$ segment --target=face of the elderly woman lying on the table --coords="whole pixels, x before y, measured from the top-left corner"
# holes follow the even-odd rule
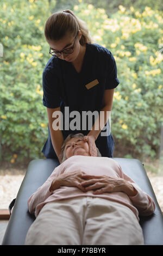
[[[65,155],[67,159],[75,155],[90,156],[89,145],[82,138],[72,138],[65,145]]]

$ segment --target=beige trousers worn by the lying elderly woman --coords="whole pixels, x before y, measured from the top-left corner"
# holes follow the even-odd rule
[[[143,234],[127,206],[78,197],[44,205],[25,245],[143,245]]]

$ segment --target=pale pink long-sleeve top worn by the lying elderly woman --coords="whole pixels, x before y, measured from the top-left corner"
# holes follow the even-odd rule
[[[61,186],[53,192],[49,191],[54,178],[57,178],[60,174],[74,172],[75,170],[82,170],[89,175],[108,175],[111,178],[118,177],[127,180],[134,186],[137,192],[136,196],[129,197],[124,192],[93,194],[93,190],[83,192],[78,187],[66,186]],[[155,210],[153,199],[149,197],[146,192],[143,192],[141,188],[129,178],[129,176],[123,173],[120,164],[115,160],[109,157],[91,157],[82,155],[71,156],[56,167],[45,183],[30,196],[28,199],[28,208],[29,212],[35,214],[37,217],[43,205],[46,203],[87,196],[105,198],[126,205],[134,212],[137,220],[139,220],[139,215],[148,216],[153,214]]]

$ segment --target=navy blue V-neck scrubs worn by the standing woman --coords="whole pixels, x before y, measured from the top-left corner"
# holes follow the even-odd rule
[[[98,80],[98,84],[90,89],[86,84]],[[63,127],[65,127],[65,107],[69,107],[69,113],[78,111],[80,113],[80,130],[62,130],[64,139],[70,134],[82,132],[89,133],[89,127],[82,130],[82,111],[98,111],[103,108],[103,97],[106,89],[114,89],[120,82],[117,78],[116,62],[112,53],[98,44],[86,44],[82,70],[78,73],[71,62],[54,56],[48,60],[42,75],[43,106],[57,108],[60,106],[63,114]],[[69,117],[69,122],[73,118]],[[68,119],[67,119],[68,120]],[[88,122],[86,122],[88,123]],[[93,123],[95,123],[95,119]],[[92,125],[93,126],[93,125]],[[109,129],[108,122],[105,129]],[[103,131],[101,131],[103,132]],[[101,136],[99,133],[95,143],[102,156],[113,157],[114,139],[111,133]],[[47,158],[58,159],[54,151],[51,133],[48,126],[48,139],[43,146],[42,153]]]

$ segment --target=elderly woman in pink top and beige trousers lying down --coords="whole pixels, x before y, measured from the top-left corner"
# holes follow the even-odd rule
[[[89,154],[82,133],[69,135],[61,164],[28,199],[36,220],[26,245],[143,245],[139,215],[153,199],[109,157]]]

